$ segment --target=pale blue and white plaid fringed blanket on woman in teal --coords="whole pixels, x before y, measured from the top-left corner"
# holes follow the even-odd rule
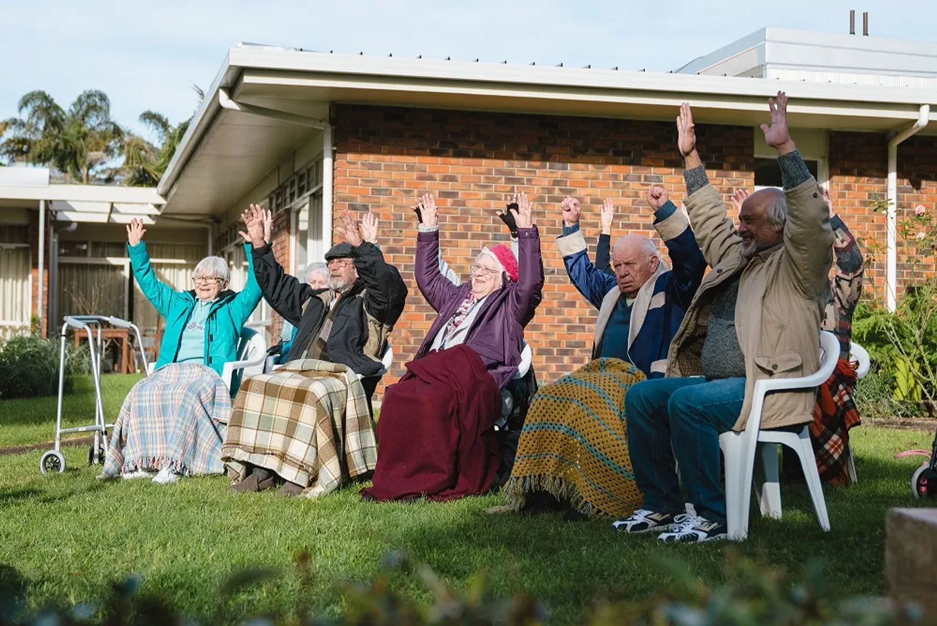
[[[103,476],[171,467],[188,476],[220,474],[231,395],[214,370],[177,363],[133,386],[114,423]]]

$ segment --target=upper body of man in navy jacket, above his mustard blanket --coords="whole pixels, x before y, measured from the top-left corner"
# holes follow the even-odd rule
[[[563,234],[557,243],[573,285],[599,309],[592,358],[621,359],[647,378],[662,378],[670,340],[703,280],[706,259],[690,221],[669,200],[665,189],[651,187],[647,204],[654,210],[654,228],[667,246],[673,270],[664,266],[654,242],[639,234],[617,240],[612,248],[611,273],[596,267],[588,259],[586,240],[579,231],[582,205],[575,198],[561,204]],[[613,210],[612,201],[604,201],[603,231],[611,224]]]

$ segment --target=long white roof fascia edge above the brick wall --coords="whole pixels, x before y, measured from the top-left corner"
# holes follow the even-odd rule
[[[359,89],[365,86],[360,77],[369,76],[376,79],[376,82],[393,82],[398,89],[403,90],[413,88],[413,85],[406,84],[408,81],[422,81],[424,85],[427,82],[437,82],[436,87],[445,87],[449,91],[454,88],[454,83],[466,85],[474,82],[476,84],[473,93],[493,95],[497,95],[498,91],[502,94],[511,93],[512,86],[538,86],[537,97],[555,99],[584,99],[589,97],[590,91],[605,89],[631,92],[637,98],[634,101],[640,102],[641,92],[666,92],[673,95],[673,101],[689,99],[694,105],[707,103],[706,106],[724,109],[738,108],[739,100],[755,97],[761,98],[760,106],[764,108],[764,99],[781,90],[786,91],[794,100],[792,111],[810,110],[811,103],[807,102],[808,100],[824,100],[823,112],[844,117],[854,112],[863,114],[862,110],[866,107],[860,103],[896,105],[884,107],[889,117],[889,110],[893,109],[899,113],[895,118],[896,122],[916,119],[916,112],[912,111],[912,108],[916,110],[919,105],[937,105],[937,90],[907,87],[870,88],[862,85],[780,82],[597,68],[435,61],[239,46],[229,50],[225,63],[206,92],[199,111],[196,112],[169,167],[156,186],[161,196],[167,199],[171,197],[173,186],[186,167],[186,162],[200,149],[203,135],[215,121],[216,113],[220,110],[218,88],[231,90],[235,87],[243,69],[271,70],[278,77],[274,80],[281,84],[289,84],[291,81],[303,82],[318,74],[320,78],[336,86],[341,84]],[[237,97],[236,89],[231,90],[231,97]],[[837,106],[830,107],[830,104]],[[937,106],[934,110],[931,119],[937,119]]]

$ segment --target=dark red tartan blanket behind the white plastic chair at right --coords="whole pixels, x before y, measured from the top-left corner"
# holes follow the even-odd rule
[[[813,406],[811,443],[820,480],[832,484],[849,484],[847,469],[849,429],[861,424],[855,409],[855,365],[840,359],[829,380],[819,388]]]

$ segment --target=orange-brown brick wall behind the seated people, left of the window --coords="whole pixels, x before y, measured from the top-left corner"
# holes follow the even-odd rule
[[[697,133],[711,181],[726,201],[736,187],[753,185],[751,127],[701,126]],[[443,254],[463,276],[480,247],[508,240],[496,216],[508,194],[532,197],[546,284],[526,337],[545,383],[587,362],[596,316],[570,284],[554,243],[559,202],[566,195],[583,202],[590,254],[603,198],[616,203],[615,235],[652,234],[647,188],[664,186],[677,203],[683,197],[676,142],[674,124],[664,122],[336,106],[335,213],[379,215],[380,246],[410,290],[385,381],[398,378],[435,318],[413,280],[417,222],[409,207],[420,194],[436,195]]]

